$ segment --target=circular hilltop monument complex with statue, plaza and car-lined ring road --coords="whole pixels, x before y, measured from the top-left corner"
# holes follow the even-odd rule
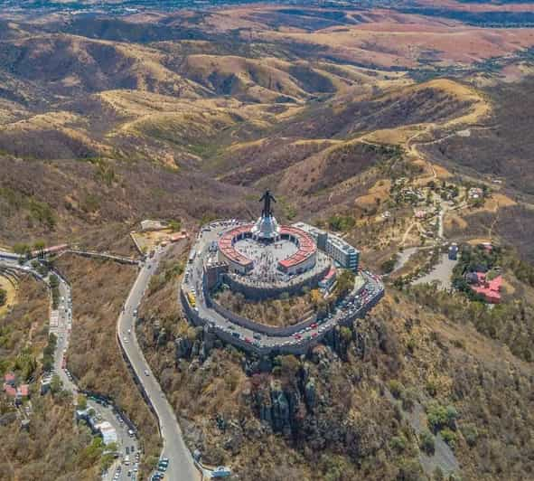
[[[256,222],[231,219],[201,228],[183,278],[183,309],[192,324],[207,326],[231,344],[259,353],[305,353],[336,325],[364,316],[384,288],[360,268],[360,252],[346,241],[304,222],[278,223],[276,198],[268,190],[259,202]],[[339,297],[336,278],[345,270],[353,286]],[[257,302],[316,289],[330,308],[295,325],[262,325],[220,306],[212,295],[221,286]]]

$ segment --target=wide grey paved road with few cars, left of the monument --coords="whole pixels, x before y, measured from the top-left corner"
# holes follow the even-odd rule
[[[165,479],[194,481],[200,479],[200,474],[194,467],[191,452],[185,446],[173,408],[150,370],[136,338],[136,316],[134,313],[163,253],[164,250],[157,250],[154,258],[147,259],[139,271],[136,282],[126,299],[124,311],[118,317],[117,334],[120,336],[120,342],[137,378],[152,401],[160,423],[162,439],[164,440],[162,456],[170,459]],[[169,302],[172,302],[172,299],[169,299]]]

